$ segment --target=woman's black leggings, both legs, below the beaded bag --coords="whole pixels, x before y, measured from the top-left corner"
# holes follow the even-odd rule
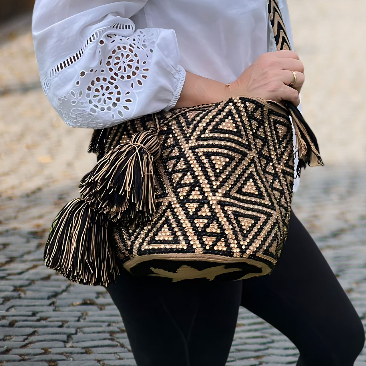
[[[293,212],[271,275],[172,283],[123,270],[107,290],[122,315],[138,366],[224,366],[239,305],[295,344],[297,366],[351,366],[365,342],[354,307]]]

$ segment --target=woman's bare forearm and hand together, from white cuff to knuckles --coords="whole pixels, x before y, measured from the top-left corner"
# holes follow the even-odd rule
[[[288,86],[294,79],[296,83]],[[186,71],[180,97],[173,109],[216,103],[230,97],[259,97],[299,105],[299,92],[305,80],[304,66],[294,51],[267,52],[246,68],[230,88],[224,83]]]

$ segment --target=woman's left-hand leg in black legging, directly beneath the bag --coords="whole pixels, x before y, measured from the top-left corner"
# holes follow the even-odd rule
[[[107,287],[138,366],[224,366],[234,337],[241,281],[135,277]]]

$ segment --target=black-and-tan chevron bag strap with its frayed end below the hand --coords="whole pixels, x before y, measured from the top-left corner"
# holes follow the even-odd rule
[[[291,51],[291,44],[287,36],[280,7],[276,0],[267,0],[267,2],[269,20],[272,25],[273,35],[275,36],[277,46],[276,49],[277,51]],[[305,119],[298,108],[290,101],[282,101],[281,104],[288,109],[288,113],[292,117],[292,123],[295,128],[296,152],[299,153],[299,163],[296,169],[296,176],[300,176],[301,168],[305,168],[306,165],[311,167],[317,165],[323,166],[324,163],[320,157],[317,139],[309,125],[305,122]]]

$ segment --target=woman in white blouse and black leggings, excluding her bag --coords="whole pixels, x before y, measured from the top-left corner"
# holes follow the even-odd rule
[[[292,43],[285,0],[279,6]],[[305,80],[295,52],[272,52],[265,0],[37,0],[33,36],[44,91],[73,127],[109,127],[239,95],[298,106]],[[225,365],[239,305],[294,342],[298,366],[353,365],[365,341],[355,309],[293,212],[270,276],[171,283],[121,269],[107,290],[139,366]]]

